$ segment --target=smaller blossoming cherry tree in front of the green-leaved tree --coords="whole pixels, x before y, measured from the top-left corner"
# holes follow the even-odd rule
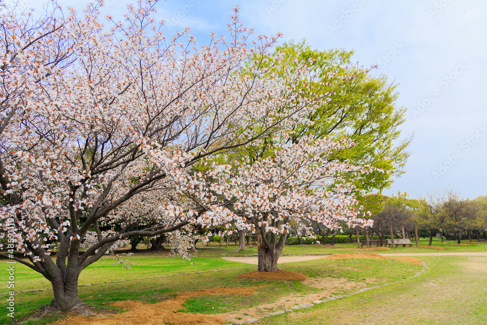
[[[206,210],[194,223],[257,233],[259,271],[278,269],[291,224],[309,236],[313,236],[311,222],[328,229],[342,229],[340,222],[349,228],[372,226],[354,208],[355,186],[347,179],[384,172],[329,160],[333,153],[354,145],[346,139],[342,143],[310,137],[295,144],[282,141],[288,138],[275,136],[272,153],[257,161],[234,159],[230,154],[228,163],[222,163],[221,157],[219,162],[204,158],[203,164],[211,164],[206,173],[171,171],[177,190]]]

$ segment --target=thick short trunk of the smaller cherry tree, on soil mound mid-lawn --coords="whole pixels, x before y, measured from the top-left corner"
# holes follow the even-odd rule
[[[279,242],[277,242],[277,235],[272,233],[269,239],[265,237],[265,230],[257,229],[257,256],[259,272],[277,271],[277,261],[281,256],[284,243],[286,242],[287,232],[281,234]]]

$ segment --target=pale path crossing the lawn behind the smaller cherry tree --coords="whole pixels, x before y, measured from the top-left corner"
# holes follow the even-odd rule
[[[368,252],[370,253],[370,252]],[[377,254],[382,256],[487,256],[487,252],[468,252],[468,253],[397,253],[397,254]],[[318,258],[326,257],[328,255],[311,255],[311,256],[281,256],[279,258],[279,264],[301,262],[316,260]],[[228,256],[222,257],[224,260],[232,262],[240,262],[258,265],[257,256]]]

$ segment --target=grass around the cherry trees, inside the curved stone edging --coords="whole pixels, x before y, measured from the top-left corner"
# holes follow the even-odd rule
[[[206,257],[206,259],[208,268],[212,266],[214,268],[222,269],[228,266],[228,264],[225,263],[226,261],[219,257]],[[256,268],[252,265],[245,265],[237,262],[234,262],[233,266],[244,266],[244,268],[222,270],[211,273],[177,275],[172,277],[151,278],[147,276],[153,274],[152,272],[164,269],[164,263],[167,263],[170,266],[171,263],[175,262],[174,260],[161,258],[156,265],[151,267],[153,269],[151,269],[150,266],[146,266],[144,268],[146,273],[142,280],[107,283],[106,277],[111,278],[112,274],[99,272],[97,281],[102,282],[102,284],[79,287],[79,297],[83,302],[89,305],[105,308],[106,306],[103,306],[105,303],[123,300],[138,300],[147,303],[155,303],[171,298],[176,292],[186,292],[195,289],[215,287],[259,287],[256,290],[257,294],[252,296],[208,295],[195,297],[188,300],[182,308],[182,311],[185,312],[223,313],[262,304],[269,304],[289,294],[306,295],[323,290],[312,282],[303,284],[300,281],[269,281],[262,279],[236,278],[237,275],[255,270]],[[342,282],[345,281],[347,282],[346,289],[343,289],[341,286],[333,288],[334,294],[343,294],[364,287],[367,284],[378,284],[394,281],[395,279],[402,277],[409,277],[417,272],[417,269],[420,267],[392,260],[318,259],[307,262],[288,263],[285,264],[285,268],[287,270],[305,273],[321,282],[334,282],[336,280]],[[384,273],[384,268],[393,270],[393,272]],[[365,271],[360,271],[360,269],[365,269]],[[138,276],[141,276],[136,267],[130,271],[123,271],[129,273],[136,272],[139,274]],[[102,274],[103,278],[100,278]],[[364,282],[365,280],[367,282]],[[16,278],[16,282],[21,283],[21,278]],[[326,294],[326,296],[328,295],[329,293]],[[17,319],[23,318],[26,320],[35,309],[49,304],[51,300],[52,293],[49,290],[16,294]],[[271,310],[272,308],[268,309],[268,311]],[[7,318],[6,316],[0,318],[0,324],[9,324],[10,321],[10,318]],[[49,322],[53,321],[52,318],[49,320]],[[45,319],[33,319],[30,320],[30,322],[30,324],[47,323]]]

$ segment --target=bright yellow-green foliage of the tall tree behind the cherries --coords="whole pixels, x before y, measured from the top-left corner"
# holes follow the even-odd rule
[[[295,127],[292,141],[297,142],[305,135],[334,140],[351,138],[356,146],[331,158],[350,159],[356,165],[370,164],[396,176],[404,172],[411,138],[399,140],[399,126],[405,121],[406,109],[395,106],[397,85],[388,83],[385,76],[371,76],[368,70],[354,66],[353,51],[313,50],[302,40],[284,43],[276,48],[276,53],[283,55],[276,72],[303,66],[310,70],[308,79],[292,85],[297,91],[303,91],[303,84],[311,83],[313,92],[330,98],[308,116],[313,125]],[[389,174],[374,172],[356,185],[364,192],[371,192],[387,188],[391,183]]]

